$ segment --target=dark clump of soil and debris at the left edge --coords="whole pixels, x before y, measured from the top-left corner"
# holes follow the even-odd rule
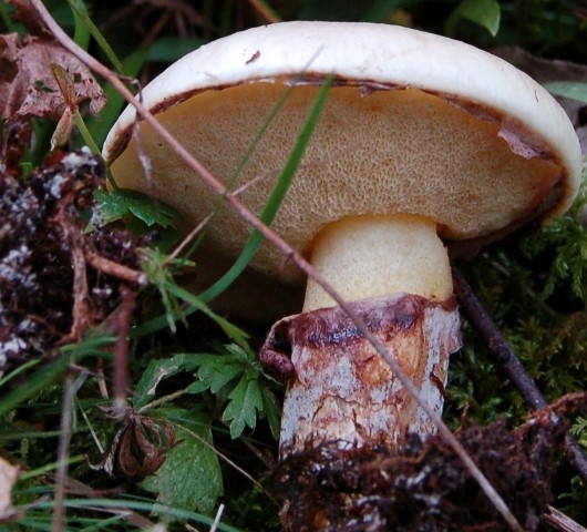
[[[104,182],[89,151],[58,155],[27,183],[0,172],[0,372],[80,340],[116,308],[123,285],[136,290],[100,265],[136,270],[138,241],[84,232]]]

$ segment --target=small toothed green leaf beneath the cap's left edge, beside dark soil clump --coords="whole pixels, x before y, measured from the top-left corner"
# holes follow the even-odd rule
[[[172,206],[131,188],[96,191],[94,200],[96,202],[94,216],[103,224],[116,222],[132,214],[147,227],[155,224],[174,227],[173,221],[179,218],[179,214]]]

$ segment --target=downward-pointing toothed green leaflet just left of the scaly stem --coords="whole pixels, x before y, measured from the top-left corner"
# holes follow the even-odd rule
[[[223,420],[230,423],[233,439],[238,438],[246,427],[254,429],[257,412],[262,411],[262,395],[256,377],[245,374],[228,396],[229,402],[224,410]]]

